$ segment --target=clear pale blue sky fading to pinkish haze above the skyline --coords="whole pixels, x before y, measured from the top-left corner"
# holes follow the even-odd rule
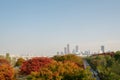
[[[0,0],[0,54],[120,50],[120,0]]]

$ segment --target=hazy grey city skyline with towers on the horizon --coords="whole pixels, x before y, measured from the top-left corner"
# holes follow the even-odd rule
[[[75,45],[73,48],[71,48],[71,45],[67,44],[62,51],[57,51],[56,55],[76,54],[79,56],[89,56],[92,54],[102,54],[108,52],[114,52],[114,51],[106,49],[104,45],[101,45],[98,51],[90,51],[89,49],[82,51],[78,45]]]

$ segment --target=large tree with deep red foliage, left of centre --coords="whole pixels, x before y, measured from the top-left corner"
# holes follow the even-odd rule
[[[31,72],[38,72],[41,67],[45,67],[52,62],[52,59],[47,57],[35,57],[25,61],[20,67],[21,74],[30,74]]]

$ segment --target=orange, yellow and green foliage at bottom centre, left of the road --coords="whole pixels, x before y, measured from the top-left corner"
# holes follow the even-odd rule
[[[32,72],[28,80],[94,80],[91,74],[71,61],[52,61],[47,67],[40,68],[39,72]]]

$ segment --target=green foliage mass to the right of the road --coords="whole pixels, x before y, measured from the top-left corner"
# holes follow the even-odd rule
[[[120,51],[114,56],[92,56],[88,58],[94,70],[98,71],[101,80],[120,80]]]

